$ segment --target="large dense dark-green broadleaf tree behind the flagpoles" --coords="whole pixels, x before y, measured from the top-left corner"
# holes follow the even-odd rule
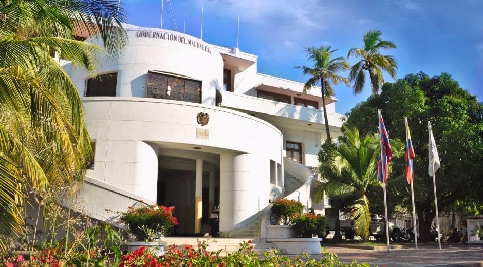
[[[404,117],[408,118],[416,152],[415,183],[425,184],[429,192],[433,192],[427,157],[427,122],[431,121],[441,161],[436,172],[439,211],[461,201],[482,199],[483,104],[462,89],[451,75],[442,73],[430,78],[421,72],[408,74],[396,83],[386,83],[380,95],[369,97],[347,113],[345,124],[355,125],[362,133],[373,132],[378,126],[374,123],[377,109],[383,110],[392,138],[405,139]],[[393,173],[404,175],[404,160],[395,160]],[[436,216],[434,195],[416,194],[416,209],[421,241],[429,241]]]

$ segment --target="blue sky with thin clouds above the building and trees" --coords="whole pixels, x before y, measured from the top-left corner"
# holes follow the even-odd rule
[[[161,0],[124,0],[129,23],[160,27]],[[204,6],[203,40],[219,46],[236,46],[240,16],[239,48],[258,55],[258,72],[306,82],[293,67],[307,65],[303,47],[322,44],[347,56],[362,46],[370,29],[398,48],[385,51],[398,60],[398,78],[423,71],[430,76],[448,72],[461,87],[483,101],[483,1],[481,0],[171,0],[164,2],[163,29],[200,36]],[[349,63],[357,62],[354,58]],[[347,75],[344,74],[344,75]],[[385,77],[386,82],[393,79]],[[370,95],[369,84],[354,96],[352,88],[335,89],[338,113],[349,111]]]

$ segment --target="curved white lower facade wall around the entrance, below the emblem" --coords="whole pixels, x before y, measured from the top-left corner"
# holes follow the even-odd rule
[[[156,202],[162,149],[209,152],[220,155],[220,216],[227,218],[220,231],[242,226],[268,205],[270,160],[283,164],[283,136],[271,124],[230,109],[172,100],[89,97],[82,102],[96,140],[89,177]],[[210,116],[205,126],[197,122],[200,112]],[[206,136],[197,135],[199,130]]]

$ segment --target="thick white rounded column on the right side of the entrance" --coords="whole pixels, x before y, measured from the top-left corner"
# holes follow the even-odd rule
[[[253,154],[220,155],[220,236],[245,225],[268,205],[270,160]]]

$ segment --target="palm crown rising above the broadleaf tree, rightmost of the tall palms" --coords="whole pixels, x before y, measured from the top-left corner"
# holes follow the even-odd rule
[[[379,30],[370,30],[364,33],[362,40],[364,42],[362,48],[352,48],[349,50],[349,56],[354,55],[360,61],[350,68],[349,81],[354,82],[354,94],[362,92],[366,81],[366,73],[369,73],[369,79],[372,86],[373,94],[379,93],[379,88],[384,84],[382,71],[386,71],[396,80],[396,70],[398,69],[397,61],[392,55],[381,55],[381,49],[396,48],[396,45],[389,41],[381,40],[382,32]]]

